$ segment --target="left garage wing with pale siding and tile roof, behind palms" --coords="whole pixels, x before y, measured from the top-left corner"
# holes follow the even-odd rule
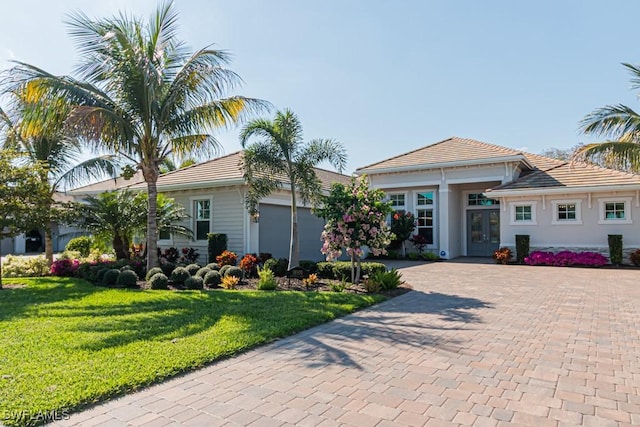
[[[198,163],[163,174],[158,179],[158,192],[164,193],[185,207],[189,218],[183,225],[194,232],[193,239],[161,233],[158,246],[161,249],[192,247],[200,253],[200,262],[207,260],[207,234],[224,233],[228,249],[239,256],[246,253],[271,253],[274,257],[289,256],[291,236],[291,197],[288,183],[282,190],[261,200],[258,214],[249,215],[245,206],[247,184],[240,166],[242,152]],[[323,189],[329,190],[334,182],[348,184],[350,177],[335,172],[316,169]],[[103,181],[79,188],[72,194],[96,194],[115,188],[128,187],[146,191],[147,185],[139,175],[132,181],[118,179]],[[298,205],[298,231],[300,259],[319,261],[322,242],[320,233],[324,221],[311,213],[308,206]]]

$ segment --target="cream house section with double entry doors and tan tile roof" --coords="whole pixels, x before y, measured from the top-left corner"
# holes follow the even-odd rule
[[[591,250],[608,234],[640,247],[640,176],[452,137],[369,166],[372,187],[417,218],[416,233],[442,258],[515,249]],[[635,221],[635,222],[634,222]]]

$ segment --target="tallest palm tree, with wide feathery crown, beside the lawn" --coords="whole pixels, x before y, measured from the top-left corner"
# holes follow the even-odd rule
[[[91,20],[78,12],[68,25],[84,58],[78,78],[56,77],[18,63],[15,81],[37,81],[44,96],[76,105],[68,126],[94,146],[115,152],[142,171],[149,194],[147,268],[157,265],[157,180],[171,155],[211,155],[214,129],[267,106],[242,96],[223,97],[240,78],[224,66],[228,55],[211,48],[191,53],[177,38],[177,12],[161,4],[145,23],[120,14]]]

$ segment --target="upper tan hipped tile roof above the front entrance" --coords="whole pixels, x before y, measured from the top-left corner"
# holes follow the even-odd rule
[[[357,173],[376,173],[385,169],[412,168],[428,169],[430,166],[441,166],[446,163],[489,161],[511,156],[522,156],[533,167],[548,169],[562,162],[537,154],[523,153],[512,148],[488,144],[474,139],[453,136],[435,144],[418,148],[408,153],[400,154],[357,169]]]

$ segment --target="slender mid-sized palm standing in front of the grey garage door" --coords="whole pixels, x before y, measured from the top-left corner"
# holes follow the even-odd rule
[[[247,147],[250,138],[260,140]],[[242,168],[249,190],[247,208],[253,214],[261,198],[268,196],[288,181],[291,191],[291,239],[289,269],[298,265],[298,208],[296,194],[303,203],[316,203],[321,183],[314,167],[327,161],[338,171],[345,167],[344,147],[331,139],[314,139],[306,144],[302,138],[302,125],[289,110],[278,111],[273,121],[252,120],[240,132],[240,143],[246,148]]]

